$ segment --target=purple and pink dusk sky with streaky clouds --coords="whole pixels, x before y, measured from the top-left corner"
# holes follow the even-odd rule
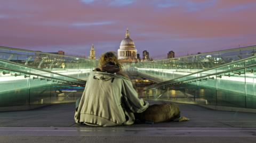
[[[0,46],[116,51],[129,28],[154,59],[256,45],[254,0],[0,0]]]

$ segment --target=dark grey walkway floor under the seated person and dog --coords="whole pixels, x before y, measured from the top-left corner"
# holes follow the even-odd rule
[[[102,128],[75,124],[74,106],[58,104],[31,111],[0,113],[1,143],[256,141],[254,113],[214,111],[180,104],[182,115],[191,121]]]

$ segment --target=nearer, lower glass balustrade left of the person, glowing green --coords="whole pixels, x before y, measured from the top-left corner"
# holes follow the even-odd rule
[[[0,107],[68,103],[81,97],[85,81],[33,70],[0,67]]]

